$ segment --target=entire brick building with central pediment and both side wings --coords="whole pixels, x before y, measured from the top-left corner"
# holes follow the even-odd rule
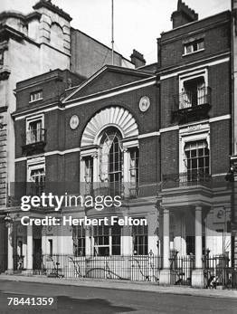
[[[39,254],[46,268],[66,254],[74,274],[80,264],[82,275],[100,276],[95,269],[102,261],[103,271],[118,267],[113,276],[124,278],[118,265],[129,261],[139,280],[203,287],[209,256],[224,267],[234,265],[231,187],[225,180],[232,147],[231,13],[198,20],[178,1],[172,19],[174,28],[157,40],[156,72],[108,65],[84,81],[69,71],[50,71],[17,84],[16,203],[10,213],[16,222],[25,215],[17,199],[45,191],[118,194],[122,204],[102,211],[41,208],[27,212],[30,217],[118,215],[146,218],[147,226],[9,228],[9,271],[17,267],[12,257],[19,252],[28,271],[40,271],[34,258]],[[69,78],[78,86],[67,88]],[[40,99],[31,101],[36,92]],[[161,261],[156,267],[154,255]]]

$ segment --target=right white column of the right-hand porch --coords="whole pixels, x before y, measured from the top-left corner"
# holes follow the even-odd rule
[[[203,267],[203,242],[202,242],[202,207],[195,207],[195,268]]]

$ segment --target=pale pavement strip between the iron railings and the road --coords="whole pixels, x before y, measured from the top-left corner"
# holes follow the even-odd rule
[[[147,281],[118,281],[102,279],[64,279],[64,278],[47,278],[42,276],[21,276],[21,275],[0,275],[1,281],[22,281],[37,282],[53,285],[93,287],[113,290],[137,290],[165,294],[176,294],[196,297],[212,297],[237,300],[237,290],[219,290],[219,289],[194,289],[185,286],[159,286],[156,282]]]

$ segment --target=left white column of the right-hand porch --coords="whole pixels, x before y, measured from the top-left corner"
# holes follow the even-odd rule
[[[169,210],[164,209],[163,211],[163,268],[169,269]]]

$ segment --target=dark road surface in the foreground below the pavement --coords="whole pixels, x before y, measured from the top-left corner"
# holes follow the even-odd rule
[[[57,309],[8,307],[7,297],[53,297]],[[62,286],[0,280],[0,313],[237,313],[237,300],[137,290]]]

